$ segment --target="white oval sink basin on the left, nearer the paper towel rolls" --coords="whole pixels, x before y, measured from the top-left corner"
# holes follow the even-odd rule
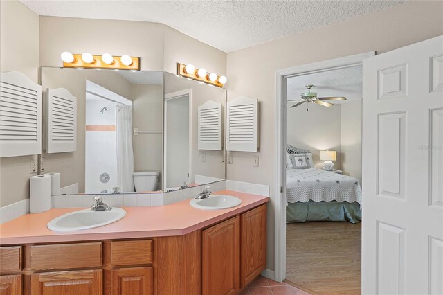
[[[66,213],[48,222],[51,231],[80,231],[104,226],[125,217],[126,211],[122,208],[112,208],[109,211],[91,211],[84,209]]]

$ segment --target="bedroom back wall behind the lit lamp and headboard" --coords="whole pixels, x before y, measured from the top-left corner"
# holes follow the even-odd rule
[[[291,106],[291,105],[289,105]],[[335,150],[334,168],[341,169],[342,105],[322,107],[311,103],[287,108],[287,143],[312,152],[314,166],[321,168],[320,150]]]

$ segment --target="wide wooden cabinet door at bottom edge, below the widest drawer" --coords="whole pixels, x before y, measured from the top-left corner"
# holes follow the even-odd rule
[[[31,275],[31,295],[101,295],[102,271],[55,271]]]

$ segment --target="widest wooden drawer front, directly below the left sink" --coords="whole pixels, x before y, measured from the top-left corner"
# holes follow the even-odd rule
[[[30,247],[30,269],[100,267],[102,243],[49,244]]]

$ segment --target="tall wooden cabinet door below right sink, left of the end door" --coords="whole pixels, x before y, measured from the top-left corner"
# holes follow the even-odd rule
[[[225,295],[239,291],[239,217],[203,231],[203,294]]]

